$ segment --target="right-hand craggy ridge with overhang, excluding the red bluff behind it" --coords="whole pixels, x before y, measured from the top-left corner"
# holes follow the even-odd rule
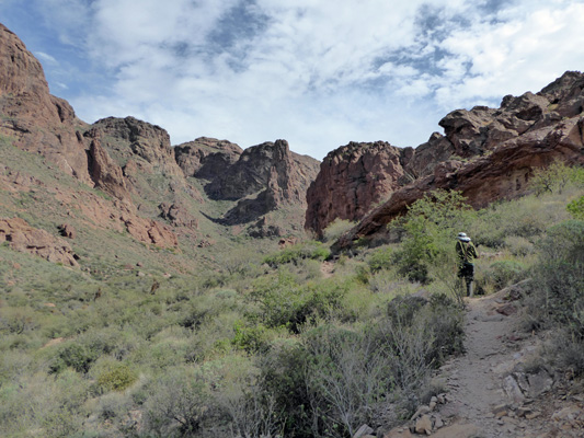
[[[505,96],[497,110],[480,106],[448,114],[440,120],[445,136],[434,134],[404,164],[413,181],[402,180],[403,185],[359,218],[337,246],[383,233],[391,219],[428,191],[460,191],[480,208],[526,194],[536,168],[554,160],[583,165],[583,111],[584,74],[566,72],[537,94]],[[307,221],[307,227],[321,231],[327,223],[314,227]]]

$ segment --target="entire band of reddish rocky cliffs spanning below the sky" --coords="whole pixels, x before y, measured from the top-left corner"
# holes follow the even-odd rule
[[[584,163],[584,74],[577,71],[537,94],[507,95],[499,108],[454,111],[439,122],[445,134],[415,149],[351,142],[319,163],[291,152],[286,140],[243,150],[199,137],[172,147],[163,128],[134,117],[87,124],[50,95],[38,60],[1,24],[0,61],[0,134],[112,197],[92,193],[79,207],[71,192],[60,196],[62,207],[82,208],[88,223],[160,247],[176,247],[181,239],[213,245],[213,227],[252,238],[305,229],[322,235],[337,218],[359,222],[339,242],[346,247],[383,234],[428,191],[458,189],[483,207],[522,196],[533,170],[556,159]],[[18,168],[4,172],[33,177]]]

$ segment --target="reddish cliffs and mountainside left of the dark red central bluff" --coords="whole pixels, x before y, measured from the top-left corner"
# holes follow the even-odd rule
[[[62,209],[80,209],[78,219],[88,226],[126,231],[160,247],[178,247],[183,239],[188,245],[209,246],[217,233],[230,239],[241,232],[304,232],[305,194],[318,161],[291,152],[285,140],[245,151],[210,138],[172,147],[163,128],[134,117],[89,125],[49,93],[38,60],[2,25],[0,114],[2,145],[42,157],[49,173],[64,172],[81,184],[83,188],[72,188],[53,182],[50,188],[59,193]],[[19,160],[7,165],[8,155],[18,155],[9,152],[2,183],[21,193],[13,177],[19,175],[31,182],[26,189],[34,189],[34,174]],[[3,207],[0,217],[18,216],[15,208]],[[32,206],[28,214],[44,215],[41,206]],[[57,223],[49,227],[57,232]]]

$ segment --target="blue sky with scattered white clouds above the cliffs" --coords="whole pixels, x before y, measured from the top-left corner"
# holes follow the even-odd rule
[[[451,111],[584,66],[584,0],[0,0],[0,22],[88,123],[319,160],[416,147]]]

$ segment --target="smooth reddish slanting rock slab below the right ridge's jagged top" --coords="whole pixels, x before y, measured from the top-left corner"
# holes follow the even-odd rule
[[[476,208],[524,195],[535,168],[545,166],[554,160],[584,165],[583,132],[584,117],[573,117],[556,126],[507,140],[491,154],[468,163],[440,163],[433,175],[396,191],[387,203],[370,211],[339,241],[337,249],[351,246],[357,239],[383,233],[387,223],[431,191],[460,191]]]

